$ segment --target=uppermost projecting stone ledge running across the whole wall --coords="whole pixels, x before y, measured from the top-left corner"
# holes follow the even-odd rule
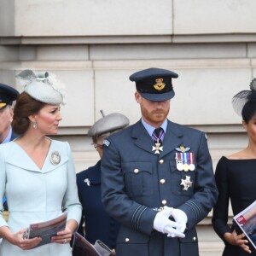
[[[0,37],[0,45],[29,44],[191,44],[256,42],[256,33],[218,33],[193,35],[131,35],[70,37]]]

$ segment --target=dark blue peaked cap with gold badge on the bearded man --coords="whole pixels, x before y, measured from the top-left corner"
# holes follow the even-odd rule
[[[143,98],[161,102],[172,99],[175,95],[172,79],[177,79],[177,77],[178,74],[170,70],[151,67],[133,73],[129,79],[136,83],[136,89]]]

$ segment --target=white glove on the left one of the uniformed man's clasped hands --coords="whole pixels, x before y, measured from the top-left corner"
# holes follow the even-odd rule
[[[164,210],[158,212],[154,218],[154,230],[157,230],[167,236],[172,237],[185,237],[183,232],[180,231],[180,224],[172,221],[169,217],[172,215],[173,208],[164,207]]]

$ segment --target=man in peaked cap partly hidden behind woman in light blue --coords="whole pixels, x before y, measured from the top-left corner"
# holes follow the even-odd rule
[[[0,84],[0,144],[9,143],[17,137],[11,123],[14,115],[12,105],[19,94],[18,90],[9,85]],[[5,196],[3,196],[3,211],[4,217],[8,219],[8,206]]]

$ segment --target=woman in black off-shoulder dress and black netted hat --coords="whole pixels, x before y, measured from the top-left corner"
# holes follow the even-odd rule
[[[256,200],[256,79],[251,90],[242,90],[233,97],[233,107],[242,117],[247,131],[247,148],[223,156],[216,167],[215,179],[218,187],[218,202],[213,208],[212,224],[224,241],[223,256],[256,255],[256,250],[247,237],[227,224],[229,201],[234,216]]]

